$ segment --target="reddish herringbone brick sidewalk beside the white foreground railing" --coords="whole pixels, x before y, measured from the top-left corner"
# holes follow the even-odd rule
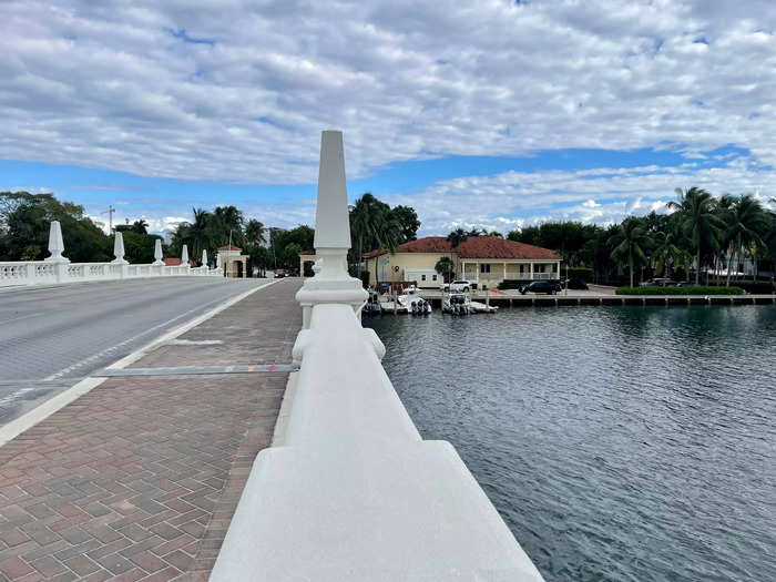
[[[261,289],[131,367],[288,364],[299,285]],[[0,582],[206,580],[287,377],[109,378],[0,448]]]

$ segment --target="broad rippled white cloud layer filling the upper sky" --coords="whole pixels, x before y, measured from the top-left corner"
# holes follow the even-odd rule
[[[735,143],[776,163],[776,3],[0,4],[0,157],[259,184],[429,155]],[[616,169],[615,169],[616,171]]]

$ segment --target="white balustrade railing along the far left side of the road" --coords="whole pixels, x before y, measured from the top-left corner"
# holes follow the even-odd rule
[[[222,276],[221,268],[23,261],[0,263],[0,287],[164,276]]]

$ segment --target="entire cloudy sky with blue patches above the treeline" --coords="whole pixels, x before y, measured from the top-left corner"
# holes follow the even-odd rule
[[[324,129],[350,197],[422,234],[776,194],[772,0],[3,0],[0,27],[0,190],[95,217],[312,223]]]

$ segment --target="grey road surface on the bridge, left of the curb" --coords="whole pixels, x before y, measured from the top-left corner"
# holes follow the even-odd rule
[[[0,290],[0,426],[264,283],[172,277]]]

